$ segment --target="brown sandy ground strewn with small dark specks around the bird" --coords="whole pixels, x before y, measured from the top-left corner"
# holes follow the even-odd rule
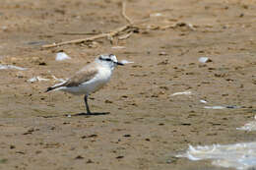
[[[41,48],[122,27],[121,11],[119,0],[1,0],[0,64],[28,70],[0,70],[0,169],[219,169],[174,155],[255,141],[235,130],[256,113],[255,0],[128,0],[127,16],[144,20],[130,37]],[[59,50],[72,59],[55,61]],[[44,92],[102,53],[135,62],[91,96],[92,111],[109,114],[74,116],[82,96]],[[214,105],[240,108],[204,108]]]

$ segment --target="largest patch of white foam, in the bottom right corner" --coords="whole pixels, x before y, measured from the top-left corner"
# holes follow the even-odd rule
[[[187,157],[193,161],[213,159],[214,165],[243,170],[256,166],[256,142],[195,147],[189,145],[185,153],[178,154],[176,157]]]

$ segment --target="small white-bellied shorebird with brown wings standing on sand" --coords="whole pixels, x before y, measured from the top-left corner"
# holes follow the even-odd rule
[[[124,65],[117,61],[113,54],[100,55],[95,62],[85,66],[71,79],[47,88],[50,90],[63,90],[75,95],[85,95],[87,114],[92,114],[88,105],[88,96],[105,85],[111,78],[114,68]]]

